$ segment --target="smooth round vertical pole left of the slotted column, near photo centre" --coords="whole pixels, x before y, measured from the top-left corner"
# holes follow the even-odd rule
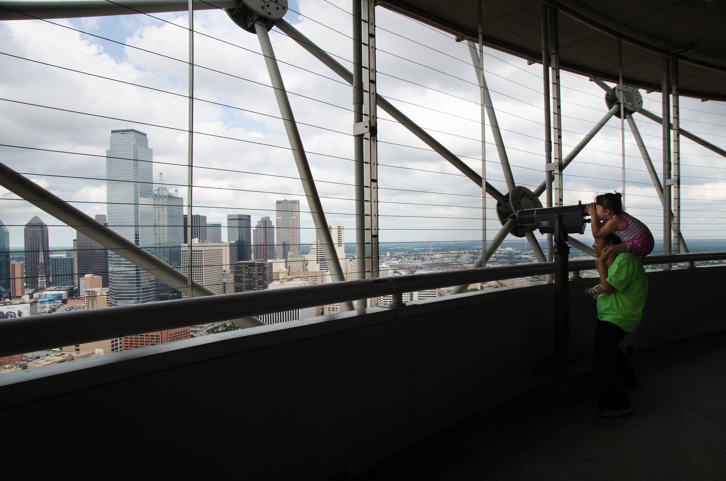
[[[353,123],[363,123],[363,24],[361,1],[353,0]],[[354,182],[356,198],[356,279],[365,279],[365,172],[363,134],[353,137]],[[365,299],[356,307],[364,309]]]

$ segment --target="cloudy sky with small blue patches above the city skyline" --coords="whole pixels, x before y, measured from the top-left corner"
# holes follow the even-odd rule
[[[351,65],[350,2],[305,0],[290,10],[288,22]],[[68,152],[0,147],[3,162],[87,214],[105,214],[103,155],[110,130],[139,129],[154,151],[154,178],[163,172],[168,187],[186,201],[187,14],[155,17],[160,20],[124,15],[0,23],[0,143]],[[379,94],[481,171],[479,93],[468,47],[380,7],[377,23]],[[254,223],[274,218],[274,201],[282,198],[300,199],[307,211],[257,37],[219,10],[196,12],[195,30],[195,213],[223,225],[227,214],[245,213]],[[351,87],[277,29],[270,36],[328,220],[353,227]],[[542,66],[491,49],[484,62],[515,180],[534,188],[544,163]],[[568,153],[606,110],[603,91],[587,78],[563,73],[562,84]],[[660,94],[643,95],[645,107],[660,112]],[[726,145],[725,105],[684,98],[681,113],[685,129]],[[381,241],[481,240],[481,190],[379,115]],[[636,118],[661,171],[660,126]],[[627,208],[660,237],[660,203],[629,131],[625,138]],[[620,123],[612,119],[566,170],[566,203],[619,190],[620,150]],[[687,241],[726,237],[726,159],[688,140],[682,150]],[[493,145],[487,160],[487,177],[505,191]],[[12,246],[23,246],[22,225],[36,214],[52,226],[52,246],[71,245],[75,230],[0,187],[0,219]],[[493,210],[489,219],[491,238],[500,226]],[[308,214],[302,227],[302,241],[312,241]],[[354,241],[353,230],[346,230],[346,241]]]

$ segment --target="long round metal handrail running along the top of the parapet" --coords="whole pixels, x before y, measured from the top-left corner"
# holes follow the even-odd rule
[[[726,252],[699,252],[647,256],[643,264],[677,264],[726,259]],[[571,271],[595,268],[595,259],[570,261]],[[53,346],[69,346],[99,339],[115,339],[139,333],[164,331],[196,323],[271,314],[362,298],[423,291],[490,280],[546,275],[555,272],[554,262],[515,264],[502,267],[426,272],[387,278],[349,280],[222,296],[150,302],[103,310],[60,312],[0,321],[0,356],[33,352]]]

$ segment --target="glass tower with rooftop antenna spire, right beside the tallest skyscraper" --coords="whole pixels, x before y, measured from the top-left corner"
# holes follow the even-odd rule
[[[184,241],[184,199],[178,191],[169,192],[159,174],[159,187],[154,190],[154,255],[171,267],[181,267],[181,243]],[[181,299],[181,292],[163,280],[154,280],[155,299]]]

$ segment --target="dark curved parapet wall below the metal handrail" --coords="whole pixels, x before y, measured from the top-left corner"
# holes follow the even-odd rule
[[[726,267],[650,272],[645,349],[726,330]],[[571,281],[571,347],[589,352],[595,278]],[[547,382],[552,285],[537,283],[213,334],[0,377],[16,442],[74,434],[7,458],[25,474],[245,480],[348,477]],[[77,434],[86,434],[79,438]],[[27,438],[27,439],[26,439]],[[28,453],[32,450],[28,450]],[[127,470],[129,468],[130,470]]]

